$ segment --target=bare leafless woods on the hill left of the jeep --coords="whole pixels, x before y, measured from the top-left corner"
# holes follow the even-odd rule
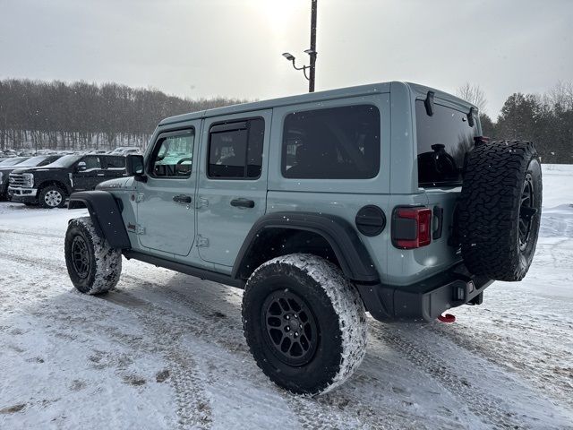
[[[0,150],[144,148],[162,118],[244,101],[182,99],[117,83],[0,80]]]

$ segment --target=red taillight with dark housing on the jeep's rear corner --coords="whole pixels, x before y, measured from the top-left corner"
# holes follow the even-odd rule
[[[430,245],[432,211],[428,208],[398,207],[392,214],[392,243],[414,249]]]

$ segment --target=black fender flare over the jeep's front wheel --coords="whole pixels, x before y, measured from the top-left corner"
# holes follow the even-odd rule
[[[124,226],[120,203],[107,191],[80,191],[70,195],[68,209],[88,208],[98,236],[106,239],[112,248],[129,249],[132,244]]]

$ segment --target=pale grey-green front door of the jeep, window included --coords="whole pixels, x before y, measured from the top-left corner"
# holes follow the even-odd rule
[[[195,236],[196,173],[193,153],[201,121],[160,133],[137,183],[137,234],[151,253],[187,255]]]

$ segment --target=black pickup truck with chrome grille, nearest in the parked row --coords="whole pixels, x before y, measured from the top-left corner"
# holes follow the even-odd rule
[[[93,190],[100,182],[125,175],[123,156],[65,155],[42,168],[14,169],[8,193],[13,202],[61,208],[71,193]]]

